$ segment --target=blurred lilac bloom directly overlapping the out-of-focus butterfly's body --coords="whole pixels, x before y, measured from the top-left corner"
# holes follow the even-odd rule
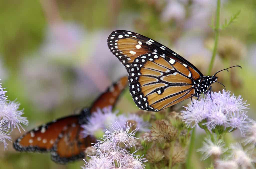
[[[81,132],[83,137],[87,137],[89,135],[95,137],[102,136],[104,134],[104,130],[117,119],[117,112],[113,113],[111,109],[111,107],[105,107],[102,110],[98,109],[97,112],[93,112],[88,118],[88,122],[81,125],[84,129]]]

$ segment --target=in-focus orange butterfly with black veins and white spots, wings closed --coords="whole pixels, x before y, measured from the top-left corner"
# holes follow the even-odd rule
[[[211,93],[211,84],[218,79],[216,74],[229,69],[204,76],[173,50],[131,31],[113,31],[107,43],[125,66],[130,93],[142,110],[160,111],[188,98],[192,100],[193,96],[199,98],[201,93]]]

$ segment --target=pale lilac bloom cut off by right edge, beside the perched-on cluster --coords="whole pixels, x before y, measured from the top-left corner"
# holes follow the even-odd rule
[[[256,146],[256,122],[250,120],[250,125],[246,129],[246,138],[243,140],[245,145],[252,144],[253,147]]]

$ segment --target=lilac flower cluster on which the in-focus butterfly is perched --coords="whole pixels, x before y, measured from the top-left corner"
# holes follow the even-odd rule
[[[211,130],[222,127],[222,130],[231,132],[239,129],[243,135],[247,129],[249,109],[241,96],[230,95],[229,91],[207,93],[205,98],[193,100],[185,111],[182,119],[187,126],[207,127]]]

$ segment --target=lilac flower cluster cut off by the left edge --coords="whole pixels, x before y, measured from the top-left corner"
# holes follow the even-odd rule
[[[6,140],[11,141],[10,132],[16,127],[20,131],[20,128],[23,129],[22,124],[28,125],[28,120],[22,116],[23,110],[19,110],[19,103],[7,100],[4,89],[0,83],[0,143],[6,149]]]

